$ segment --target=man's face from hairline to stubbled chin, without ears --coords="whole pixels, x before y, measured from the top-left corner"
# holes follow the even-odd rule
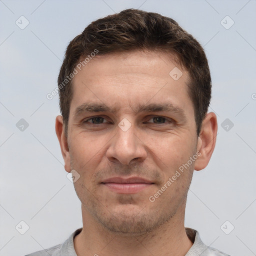
[[[138,234],[182,218],[194,161],[167,181],[196,154],[197,136],[188,72],[175,80],[174,67],[159,52],[115,53],[73,78],[65,168],[80,175],[83,213],[108,230]],[[152,108],[164,104],[173,107]]]

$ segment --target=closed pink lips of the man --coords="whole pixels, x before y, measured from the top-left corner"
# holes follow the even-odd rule
[[[105,187],[116,193],[134,194],[154,184],[141,177],[111,177],[101,182]]]

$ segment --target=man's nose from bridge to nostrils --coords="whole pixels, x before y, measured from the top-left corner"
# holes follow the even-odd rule
[[[138,129],[133,124],[126,129],[127,127],[122,124],[127,125],[125,122],[116,125],[115,135],[110,140],[106,157],[111,162],[119,162],[125,165],[131,164],[133,161],[144,161],[147,156],[146,145],[139,137]]]

